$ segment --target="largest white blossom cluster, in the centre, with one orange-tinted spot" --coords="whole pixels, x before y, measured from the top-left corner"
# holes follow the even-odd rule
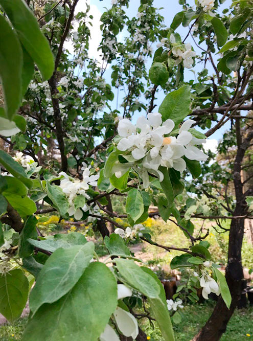
[[[163,173],[158,170],[160,166],[174,168],[179,172],[186,169],[186,162],[183,156],[189,160],[204,161],[208,157],[195,145],[205,142],[205,139],[196,139],[189,128],[195,123],[187,120],[181,125],[178,136],[168,136],[175,124],[168,119],[162,123],[162,115],[158,112],[150,112],[147,119],[141,116],[137,119],[136,125],[128,119],[119,122],[118,132],[122,139],[118,143],[118,150],[124,153],[124,158],[130,163],[130,167],[142,166],[142,178],[144,187],[148,187],[148,173],[159,176],[163,181]],[[129,169],[128,164],[116,164],[114,166],[115,175],[121,177]]]

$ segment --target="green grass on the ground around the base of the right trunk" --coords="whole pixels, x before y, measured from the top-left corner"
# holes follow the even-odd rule
[[[181,310],[182,321],[174,325],[176,341],[190,341],[192,337],[205,324],[212,313],[215,302],[188,305]],[[253,307],[236,310],[227,325],[226,332],[221,341],[253,340]],[[150,336],[150,341],[163,341],[163,337],[157,326],[154,329],[148,322],[143,324],[143,329]],[[246,336],[250,334],[250,336]]]

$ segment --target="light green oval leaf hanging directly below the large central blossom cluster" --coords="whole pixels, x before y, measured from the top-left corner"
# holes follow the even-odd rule
[[[127,195],[126,213],[135,222],[144,212],[144,204],[141,192],[136,188],[132,188]]]

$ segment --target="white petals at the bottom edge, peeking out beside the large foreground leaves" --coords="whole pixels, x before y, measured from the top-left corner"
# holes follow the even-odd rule
[[[124,299],[125,297],[131,297],[132,290],[124,284],[118,284],[118,300]],[[129,312],[120,307],[117,307],[113,313],[116,321],[118,330],[124,336],[135,339],[139,334],[139,327],[135,317]],[[105,330],[99,337],[100,341],[120,341],[120,338],[116,331],[107,324]]]

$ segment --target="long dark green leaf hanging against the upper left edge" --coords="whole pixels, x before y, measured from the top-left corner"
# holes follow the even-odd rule
[[[0,1],[1,4],[1,1]],[[0,79],[9,120],[21,102],[22,49],[15,31],[0,14]]]

